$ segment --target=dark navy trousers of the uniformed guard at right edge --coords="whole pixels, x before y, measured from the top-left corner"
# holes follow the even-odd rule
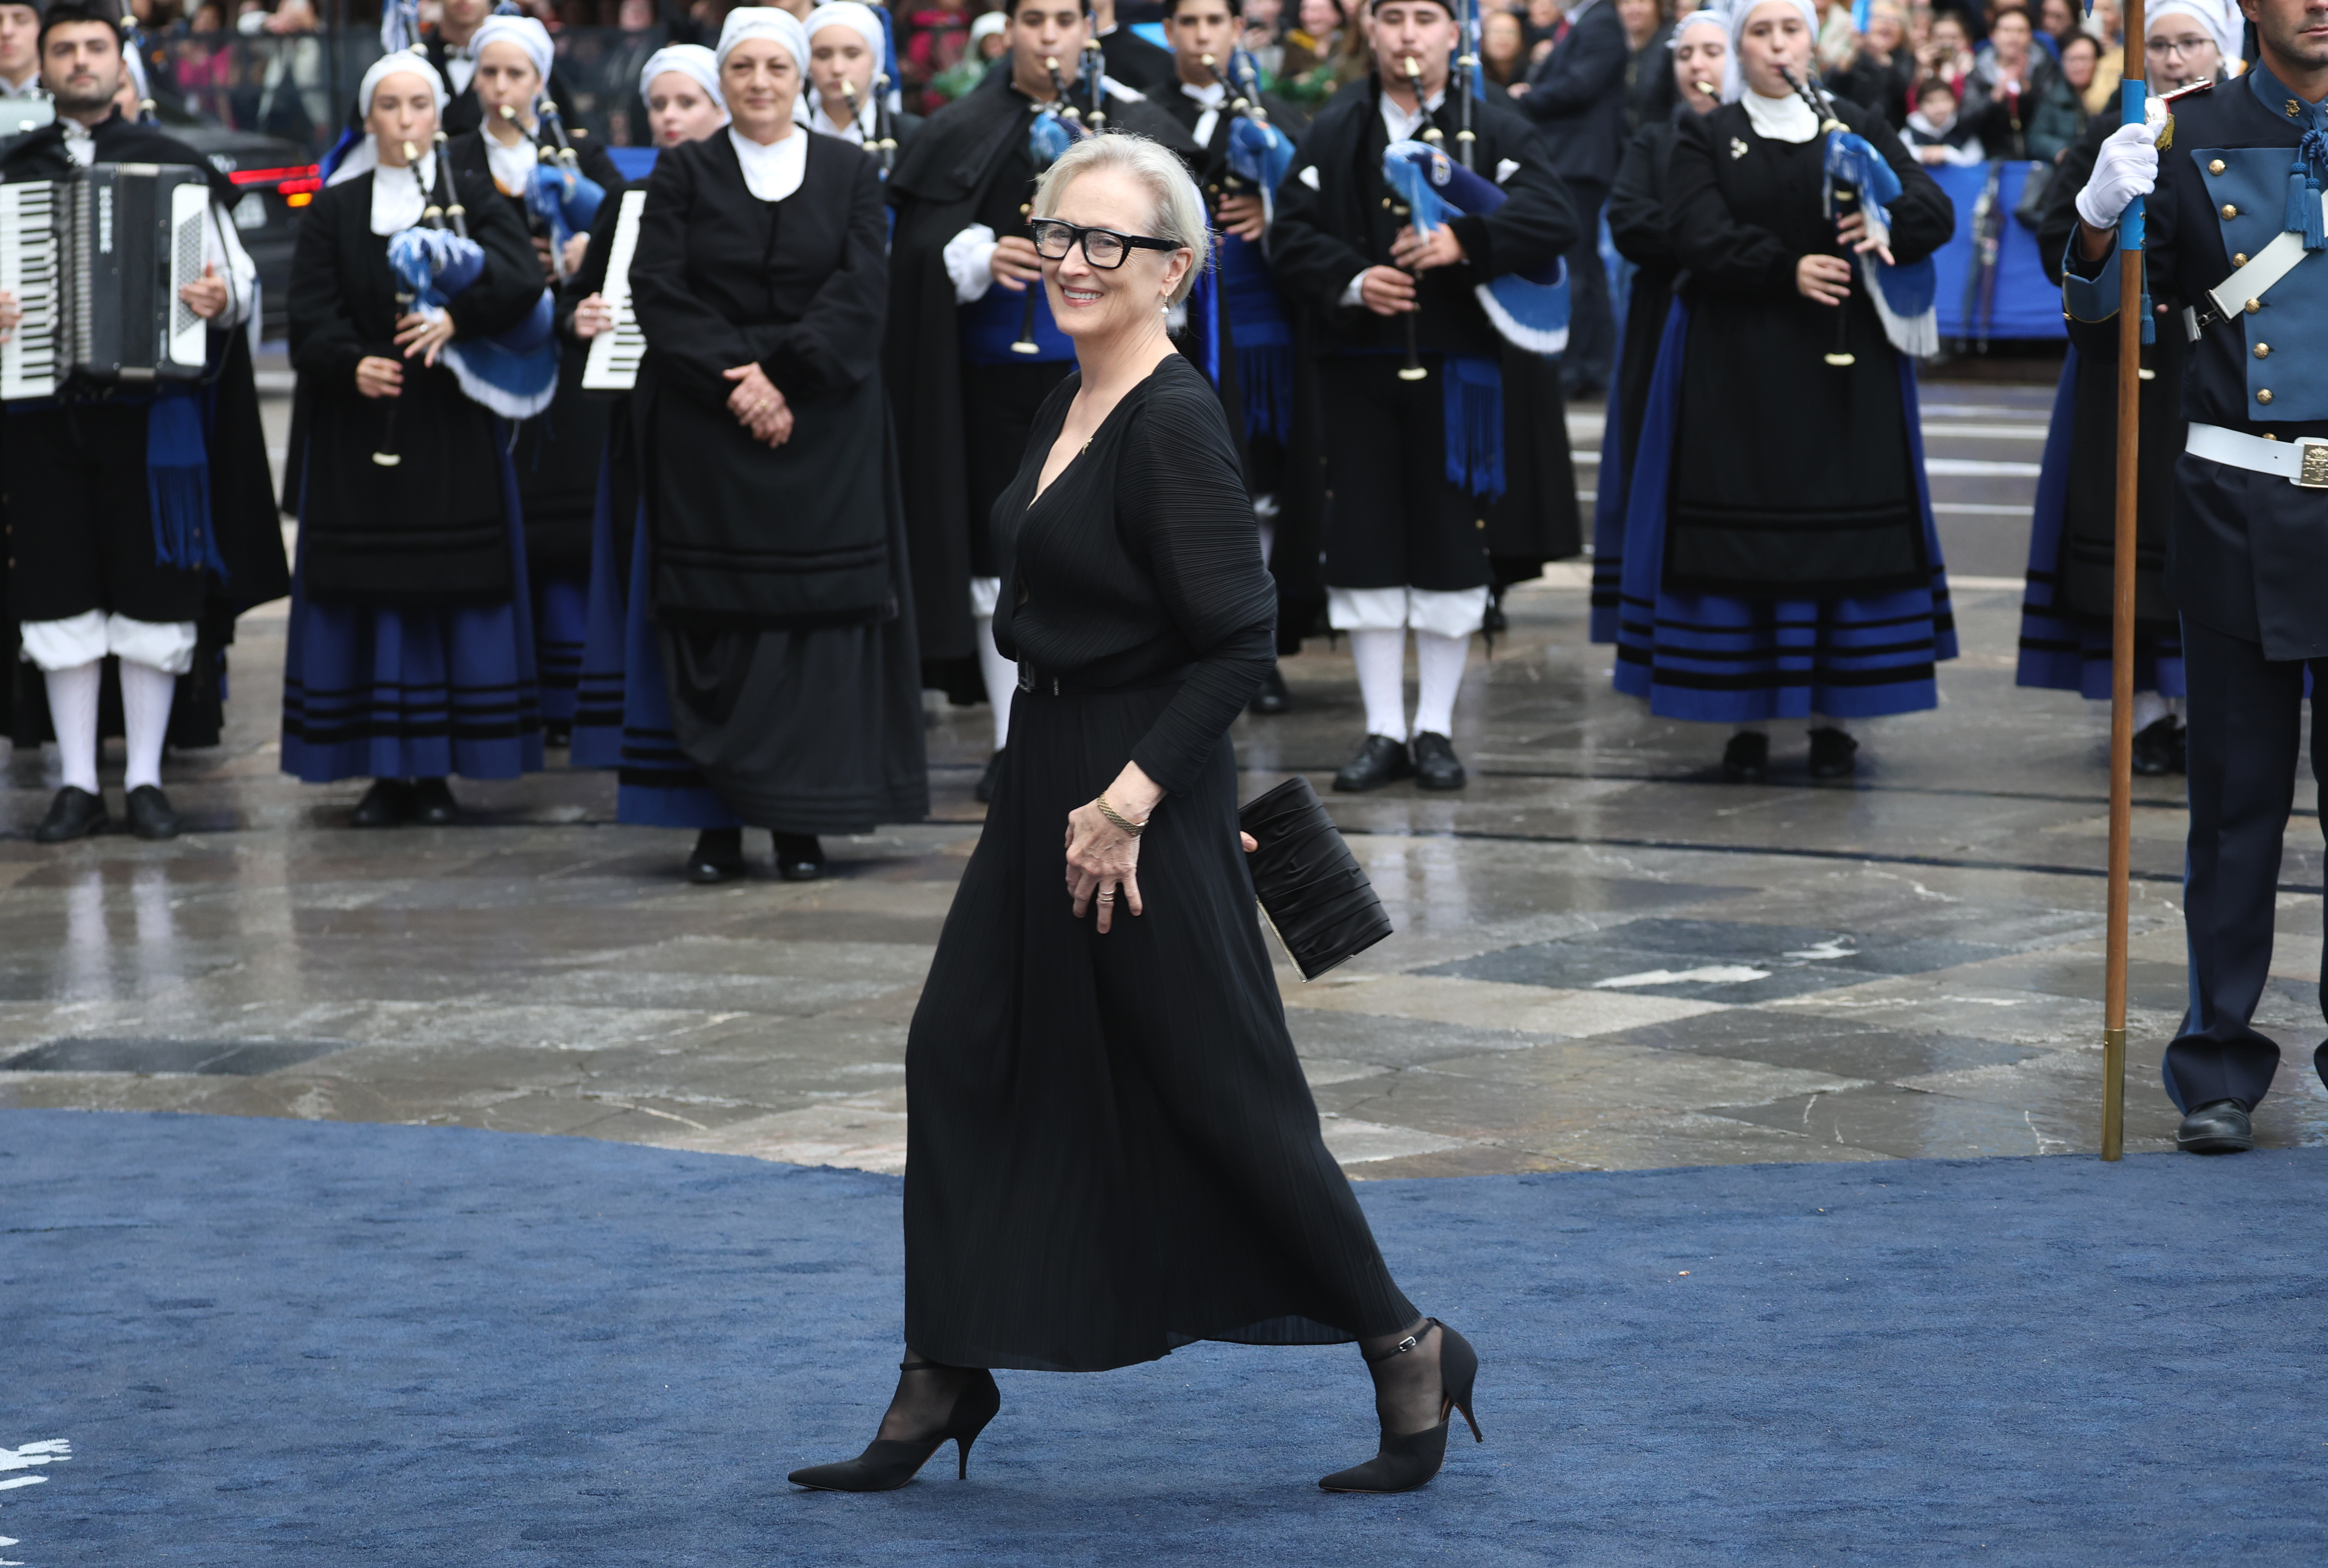
[[[2309,661],[2314,689],[2328,658]],[[2191,682],[2191,856],[2184,921],[2191,1010],[2167,1045],[2167,1098],[2254,1107],[2279,1070],[2279,1047],[2249,1019],[2272,965],[2279,842],[2295,803],[2305,661],[2270,663],[2263,647],[2184,621]],[[2312,724],[2312,777],[2328,779],[2328,724]],[[2328,1056],[2328,1047],[2321,1047]],[[2314,1063],[2328,1077],[2328,1059]]]

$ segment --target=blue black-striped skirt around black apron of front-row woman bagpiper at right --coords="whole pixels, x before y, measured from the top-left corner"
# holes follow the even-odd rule
[[[1690,309],[1676,300],[1658,347],[1625,498],[1616,689],[1648,700],[1658,717],[1704,724],[1811,714],[1876,719],[1937,707],[1935,665],[1956,658],[1956,619],[1923,475],[1914,363],[1900,356],[1900,402],[1932,561],[1930,586],[1804,600],[1674,593],[1665,589],[1665,507],[1688,335]]]

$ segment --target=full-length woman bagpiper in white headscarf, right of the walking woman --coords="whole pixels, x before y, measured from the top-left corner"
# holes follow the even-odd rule
[[[1732,726],[1734,782],[1769,777],[1772,719],[1809,719],[1814,779],[1848,777],[1851,726],[1937,707],[1935,663],[1956,656],[1916,361],[1893,342],[1937,333],[1869,286],[1876,263],[1946,244],[1956,209],[1879,109],[1832,105],[1844,130],[1825,130],[1788,86],[1816,30],[1811,0],[1739,0],[1727,102],[1674,135],[1665,212],[1688,279],[1625,516],[1616,689]],[[1846,135],[1900,184],[1888,235],[1874,205],[1827,214],[1825,151]]]

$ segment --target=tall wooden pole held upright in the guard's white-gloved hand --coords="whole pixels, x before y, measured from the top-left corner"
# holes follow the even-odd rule
[[[2121,119],[2139,126],[2149,88],[2142,0],[2125,0]],[[2125,1154],[2125,919],[2135,828],[2135,507],[2142,491],[2142,198],[2118,219],[2118,540],[2109,616],[2109,931],[2102,972],[2102,1159]]]

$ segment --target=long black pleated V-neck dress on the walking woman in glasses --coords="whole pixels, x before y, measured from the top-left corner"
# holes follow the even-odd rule
[[[1276,589],[1220,398],[1180,356],[994,507],[1010,751],[906,1047],[906,1340],[1101,1370],[1192,1340],[1339,1345],[1415,1321],[1318,1133],[1236,840],[1227,730]],[[1029,505],[1034,498],[1034,505]],[[1145,914],[1066,898],[1066,814],[1136,761]]]

